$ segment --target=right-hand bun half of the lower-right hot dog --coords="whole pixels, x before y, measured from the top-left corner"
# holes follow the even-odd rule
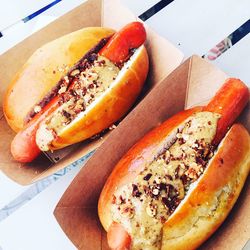
[[[163,228],[162,249],[196,249],[225,220],[250,168],[250,136],[234,125],[185,201]]]

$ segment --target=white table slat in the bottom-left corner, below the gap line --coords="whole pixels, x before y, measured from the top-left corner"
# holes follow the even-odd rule
[[[53,216],[53,210],[79,168],[70,171],[0,224],[4,250],[76,249]]]

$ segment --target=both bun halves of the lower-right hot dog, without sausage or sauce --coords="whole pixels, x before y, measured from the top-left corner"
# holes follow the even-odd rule
[[[119,161],[108,178],[98,203],[100,221],[108,231],[109,212],[116,188],[134,179],[153,160],[162,141],[200,108],[173,116],[151,131]],[[162,249],[196,249],[224,221],[248,176],[250,136],[239,124],[233,125],[210,160],[204,174],[163,226]],[[131,236],[133,238],[133,236]]]

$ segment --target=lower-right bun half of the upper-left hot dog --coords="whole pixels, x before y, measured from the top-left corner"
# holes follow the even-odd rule
[[[96,104],[86,110],[81,119],[67,125],[53,140],[50,149],[63,148],[90,138],[126,114],[141,92],[147,77],[149,62],[145,47],[138,48],[131,65],[124,67],[117,77],[117,83],[110,87],[109,92],[97,99]]]

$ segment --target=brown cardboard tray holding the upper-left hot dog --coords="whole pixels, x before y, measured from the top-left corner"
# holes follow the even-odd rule
[[[49,161],[45,155],[41,155],[30,164],[14,161],[10,154],[10,143],[15,134],[3,116],[2,102],[4,92],[15,73],[37,48],[57,37],[90,26],[119,29],[135,20],[136,17],[118,0],[89,0],[0,56],[0,169],[9,178],[19,184],[30,184],[73,163],[104,141],[104,139],[88,140],[59,150],[54,154],[54,158],[68,155],[56,164]],[[146,86],[147,91],[150,91],[180,65],[183,54],[154,31],[148,27],[146,29],[148,35],[146,47],[150,57],[150,72]]]

